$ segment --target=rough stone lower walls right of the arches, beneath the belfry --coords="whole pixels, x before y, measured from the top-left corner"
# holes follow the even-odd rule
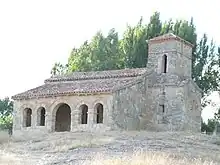
[[[198,121],[201,114],[195,113],[193,116],[192,112],[189,113],[187,103],[192,97],[197,101],[200,97],[191,96],[192,94],[189,97],[186,89],[191,90],[193,86],[181,84],[178,76],[167,74],[155,77],[150,75],[142,82],[116,91],[112,100],[115,128],[197,131],[200,128]]]

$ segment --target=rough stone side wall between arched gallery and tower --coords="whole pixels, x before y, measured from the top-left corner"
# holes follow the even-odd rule
[[[114,126],[123,130],[141,129],[140,116],[146,111],[147,79],[113,93],[112,118]]]

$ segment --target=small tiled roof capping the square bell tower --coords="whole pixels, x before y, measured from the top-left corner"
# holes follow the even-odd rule
[[[170,39],[175,39],[175,40],[178,40],[180,42],[184,42],[185,44],[187,44],[191,47],[194,46],[190,42],[180,38],[179,36],[177,36],[173,33],[167,33],[167,34],[164,34],[164,35],[161,35],[161,36],[158,36],[158,37],[154,37],[154,38],[150,39],[149,42],[157,42],[157,41],[164,41],[164,40],[170,40]]]

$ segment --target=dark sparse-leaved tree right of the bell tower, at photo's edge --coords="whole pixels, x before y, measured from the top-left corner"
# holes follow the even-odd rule
[[[213,41],[208,45],[206,34],[197,44],[194,52],[192,77],[197,85],[202,89],[203,96],[209,95],[212,91],[219,90],[219,60],[220,56],[215,52]]]

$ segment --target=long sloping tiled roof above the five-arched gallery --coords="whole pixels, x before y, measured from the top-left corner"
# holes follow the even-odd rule
[[[75,72],[45,80],[45,84],[12,97],[14,100],[75,95],[83,93],[109,93],[114,88],[131,83],[143,75],[146,68],[99,72]]]

